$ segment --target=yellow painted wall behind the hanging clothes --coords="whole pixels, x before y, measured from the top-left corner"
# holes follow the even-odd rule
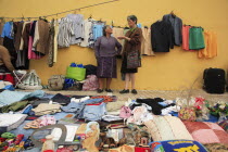
[[[107,0],[0,0],[0,16],[40,16],[66,11],[75,8],[104,2]],[[98,5],[80,12],[85,17],[92,14],[93,18],[112,20],[115,25],[125,26],[126,16],[135,14],[139,23],[150,26],[161,20],[164,14],[174,10],[183,23],[202,26],[217,33],[218,56],[211,60],[200,60],[195,52],[187,52],[176,47],[169,53],[142,59],[142,67],[137,74],[137,88],[143,90],[178,90],[190,87],[194,79],[202,75],[206,67],[228,67],[228,1],[227,0],[119,0],[117,2]],[[72,12],[73,13],[73,12]],[[59,15],[63,17],[66,14]],[[54,16],[55,17],[55,16]],[[51,18],[49,18],[51,20]],[[72,46],[60,49],[58,63],[48,67],[47,58],[31,61],[30,68],[37,71],[43,84],[51,75],[65,74],[71,62],[96,64],[93,51]],[[113,80],[112,88],[124,88],[119,74]],[[202,78],[202,76],[201,76]],[[201,87],[199,80],[194,88]]]

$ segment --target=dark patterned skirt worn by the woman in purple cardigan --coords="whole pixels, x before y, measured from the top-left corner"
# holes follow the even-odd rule
[[[99,78],[116,78],[116,59],[115,56],[101,56],[97,60],[98,69],[97,76]]]

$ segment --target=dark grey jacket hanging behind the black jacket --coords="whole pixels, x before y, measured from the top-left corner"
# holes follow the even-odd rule
[[[167,14],[163,16],[163,21],[172,24],[174,30],[174,45],[180,46],[182,43],[182,20],[176,15]]]

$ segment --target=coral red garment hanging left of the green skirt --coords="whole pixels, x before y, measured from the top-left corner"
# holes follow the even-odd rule
[[[182,49],[187,51],[194,51],[194,50],[189,50],[189,29],[191,26],[189,25],[183,25],[182,26]]]

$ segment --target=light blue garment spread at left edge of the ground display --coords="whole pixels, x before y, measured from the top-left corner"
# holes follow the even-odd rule
[[[0,106],[9,105],[17,101],[26,100],[31,97],[41,98],[45,96],[45,91],[36,90],[34,92],[23,91],[9,91],[4,90],[0,93]]]

